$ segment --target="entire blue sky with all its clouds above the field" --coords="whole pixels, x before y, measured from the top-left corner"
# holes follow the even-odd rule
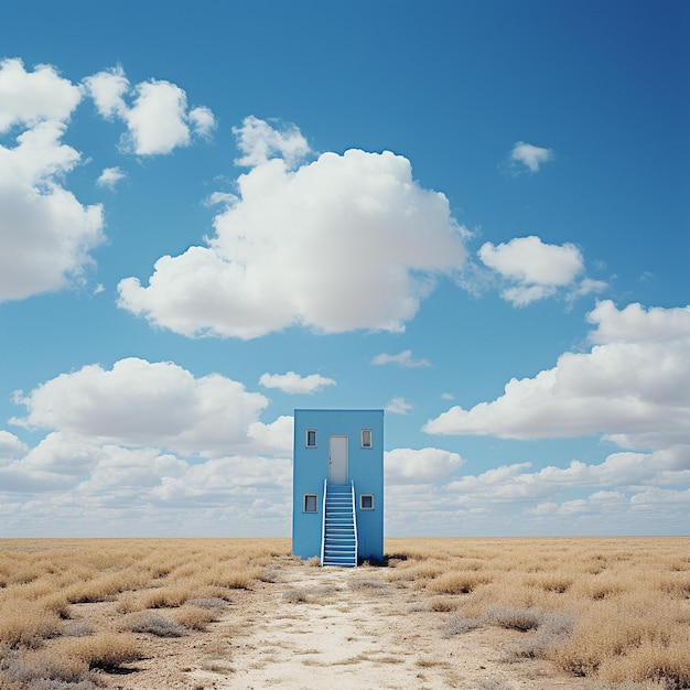
[[[690,513],[686,2],[13,3],[0,536],[288,536],[294,408],[388,535]]]

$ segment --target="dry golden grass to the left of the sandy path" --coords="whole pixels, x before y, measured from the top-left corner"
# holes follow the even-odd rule
[[[39,680],[86,687],[90,669],[140,658],[129,632],[137,615],[150,618],[144,634],[165,633],[154,615],[181,634],[204,630],[218,602],[251,587],[289,549],[285,539],[0,540],[0,689]],[[94,602],[114,602],[120,618],[95,628],[78,608]]]

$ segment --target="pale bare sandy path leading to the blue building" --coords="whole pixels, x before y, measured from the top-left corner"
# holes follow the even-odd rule
[[[145,659],[106,676],[121,690],[461,688],[552,690],[593,686],[543,661],[509,661],[521,633],[487,628],[444,638],[452,613],[387,581],[385,568],[278,561],[272,582],[238,591],[208,630],[141,635]],[[85,612],[86,614],[87,612]],[[93,615],[95,612],[90,612]],[[101,615],[107,616],[103,610]]]

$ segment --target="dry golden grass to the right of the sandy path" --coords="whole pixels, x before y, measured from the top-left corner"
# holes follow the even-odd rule
[[[391,582],[423,587],[433,611],[456,607],[451,635],[477,625],[530,630],[520,654],[574,676],[690,688],[689,538],[401,538],[386,546],[396,558]],[[441,594],[455,596],[444,605]]]

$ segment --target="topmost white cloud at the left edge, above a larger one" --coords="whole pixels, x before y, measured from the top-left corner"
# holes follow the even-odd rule
[[[80,100],[78,87],[50,65],[26,72],[21,60],[0,62],[0,133],[14,125],[65,122]]]

